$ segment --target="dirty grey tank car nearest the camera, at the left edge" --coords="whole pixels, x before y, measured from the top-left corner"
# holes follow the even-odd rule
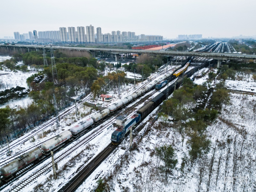
[[[3,175],[4,178],[8,178],[16,172],[20,171],[22,168],[31,164],[36,159],[39,159],[41,156],[42,151],[39,148],[34,148],[28,153],[19,156],[17,159],[1,167],[0,173],[1,175]]]

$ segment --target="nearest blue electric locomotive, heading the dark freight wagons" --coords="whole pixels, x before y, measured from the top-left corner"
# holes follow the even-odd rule
[[[141,120],[141,116],[140,114],[136,113],[133,116],[131,116],[130,118],[126,119],[126,121],[124,122],[124,131],[125,134],[128,133],[130,131],[130,129],[136,125],[139,121]],[[122,138],[122,129],[116,129],[116,131],[114,131],[111,135],[111,142],[114,145],[117,145],[118,143],[121,142],[121,138]]]

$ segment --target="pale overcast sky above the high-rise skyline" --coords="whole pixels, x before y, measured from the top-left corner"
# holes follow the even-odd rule
[[[101,27],[102,34],[256,35],[256,0],[1,0],[0,37],[60,27]]]

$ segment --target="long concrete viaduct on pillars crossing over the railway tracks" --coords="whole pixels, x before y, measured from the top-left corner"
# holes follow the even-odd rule
[[[0,45],[1,49],[27,49],[28,52],[35,51],[36,49],[50,49],[50,46],[43,45]],[[163,55],[167,57],[172,56],[195,56],[204,57],[208,59],[218,60],[218,67],[220,66],[221,60],[232,60],[232,59],[256,59],[256,55],[243,55],[243,54],[232,54],[232,53],[210,53],[210,52],[176,52],[176,51],[152,51],[152,50],[132,50],[132,49],[101,49],[101,48],[85,48],[85,47],[60,47],[52,46],[53,49],[62,50],[73,50],[73,51],[88,51],[95,57],[95,52],[107,52],[115,54],[116,61],[119,60],[119,54],[150,54],[150,55]]]

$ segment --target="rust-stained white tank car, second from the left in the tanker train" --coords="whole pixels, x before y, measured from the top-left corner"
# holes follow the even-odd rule
[[[44,153],[51,151],[52,149],[58,147],[60,144],[66,142],[68,139],[72,137],[72,133],[70,131],[64,131],[59,135],[56,135],[52,139],[46,141],[41,145],[41,149]]]

